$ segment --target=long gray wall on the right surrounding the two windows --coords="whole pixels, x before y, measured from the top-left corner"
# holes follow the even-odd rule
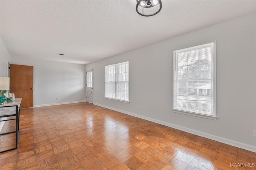
[[[93,103],[256,151],[256,17],[225,21],[96,63]],[[172,111],[172,52],[217,40],[217,120]],[[104,66],[130,61],[130,103],[104,98]],[[144,107],[144,111],[141,111]]]

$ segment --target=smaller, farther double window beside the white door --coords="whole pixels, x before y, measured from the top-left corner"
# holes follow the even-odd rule
[[[129,62],[105,66],[105,98],[129,102]]]

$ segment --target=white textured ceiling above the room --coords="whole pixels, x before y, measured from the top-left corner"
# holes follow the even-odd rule
[[[255,12],[255,3],[162,0],[143,17],[136,0],[1,0],[0,33],[11,56],[88,64]]]

